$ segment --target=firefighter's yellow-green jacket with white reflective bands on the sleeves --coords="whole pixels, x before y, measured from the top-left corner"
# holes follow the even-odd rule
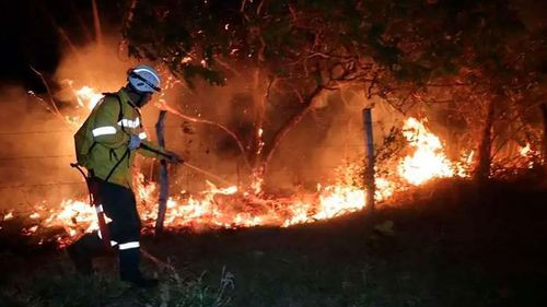
[[[115,95],[121,102],[121,119],[119,119],[120,103]],[[103,180],[116,167],[108,178],[108,182],[131,188],[131,166],[135,151],[128,151],[129,135],[139,135],[141,142],[147,146],[160,152],[164,151],[148,141],[148,135],[142,129],[139,110],[129,103],[130,99],[126,91],[121,88],[115,95],[105,96],[90,115],[89,120],[95,145],[89,153],[86,166],[89,170],[93,170],[93,174]],[[139,149],[137,152],[149,157],[158,156],[158,154],[143,149]]]

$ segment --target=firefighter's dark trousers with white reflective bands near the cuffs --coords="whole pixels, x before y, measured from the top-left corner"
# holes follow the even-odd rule
[[[135,194],[123,186],[105,182],[101,179],[91,179],[91,190],[95,202],[103,206],[103,211],[112,220],[107,224],[113,247],[119,250],[119,272],[123,279],[140,276],[140,229],[141,222],[137,211]],[[106,251],[102,243],[101,231],[86,234],[74,243],[91,258]]]

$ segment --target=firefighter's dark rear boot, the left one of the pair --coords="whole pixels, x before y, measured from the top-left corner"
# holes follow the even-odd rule
[[[103,241],[96,233],[86,234],[67,248],[75,270],[82,275],[93,273],[92,260],[104,251]]]

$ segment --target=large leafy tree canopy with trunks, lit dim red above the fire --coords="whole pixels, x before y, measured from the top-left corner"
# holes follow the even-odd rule
[[[442,86],[487,97],[477,167],[485,178],[499,105],[534,82],[517,64],[524,32],[509,3],[494,0],[159,0],[138,2],[125,36],[130,55],[164,63],[190,85],[248,75],[255,107],[246,156],[260,172],[329,91],[360,86],[404,111]],[[268,111],[274,93],[290,103]]]

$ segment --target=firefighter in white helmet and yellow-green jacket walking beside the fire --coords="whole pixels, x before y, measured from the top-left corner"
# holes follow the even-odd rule
[[[131,191],[131,166],[136,153],[158,157],[161,152],[171,163],[181,163],[182,158],[152,144],[142,129],[139,109],[150,102],[154,92],[160,92],[158,72],[151,67],[138,66],[128,71],[127,81],[117,93],[105,95],[80,129],[88,133],[77,133],[74,141],[77,151],[80,143],[91,144],[85,163],[79,158],[79,164],[88,168],[90,192],[97,212],[104,211],[112,220],[107,229],[112,247],[118,250],[120,279],[139,287],[152,287],[158,280],[144,278],[139,270],[141,222]],[[92,140],[88,140],[90,138]],[[70,258],[82,274],[91,274],[92,259],[105,251],[101,231],[86,234],[68,247]]]

